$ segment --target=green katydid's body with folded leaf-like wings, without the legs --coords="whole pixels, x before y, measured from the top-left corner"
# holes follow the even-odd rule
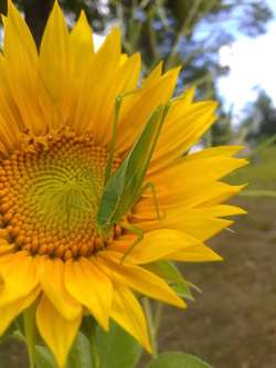
[[[152,113],[129,154],[108,179],[97,213],[99,232],[108,234],[141,196],[141,186],[168,109],[169,105],[160,105]]]

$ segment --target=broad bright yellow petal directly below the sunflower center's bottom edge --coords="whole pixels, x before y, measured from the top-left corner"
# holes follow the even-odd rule
[[[70,294],[87,307],[97,322],[108,329],[113,287],[109,278],[86,259],[65,264],[65,286]]]

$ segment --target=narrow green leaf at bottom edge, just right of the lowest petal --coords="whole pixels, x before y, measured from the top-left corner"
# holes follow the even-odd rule
[[[78,333],[70,351],[66,368],[92,368],[92,348],[88,338]]]

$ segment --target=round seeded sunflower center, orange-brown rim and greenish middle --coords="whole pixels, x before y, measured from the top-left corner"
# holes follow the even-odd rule
[[[67,260],[107,244],[95,231],[107,156],[91,135],[62,132],[2,161],[0,219],[17,250]]]

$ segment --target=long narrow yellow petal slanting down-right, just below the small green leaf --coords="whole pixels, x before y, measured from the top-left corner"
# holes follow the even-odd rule
[[[151,272],[136,265],[120,264],[121,254],[116,254],[115,252],[105,251],[100,253],[100,255],[104,260],[103,266],[106,272],[109,270],[110,277],[116,277],[115,280],[118,283],[121,283],[123,285],[125,284],[132,290],[158,301],[181,308],[185,306],[184,302],[177,296],[171,287],[169,287],[162,278]]]

